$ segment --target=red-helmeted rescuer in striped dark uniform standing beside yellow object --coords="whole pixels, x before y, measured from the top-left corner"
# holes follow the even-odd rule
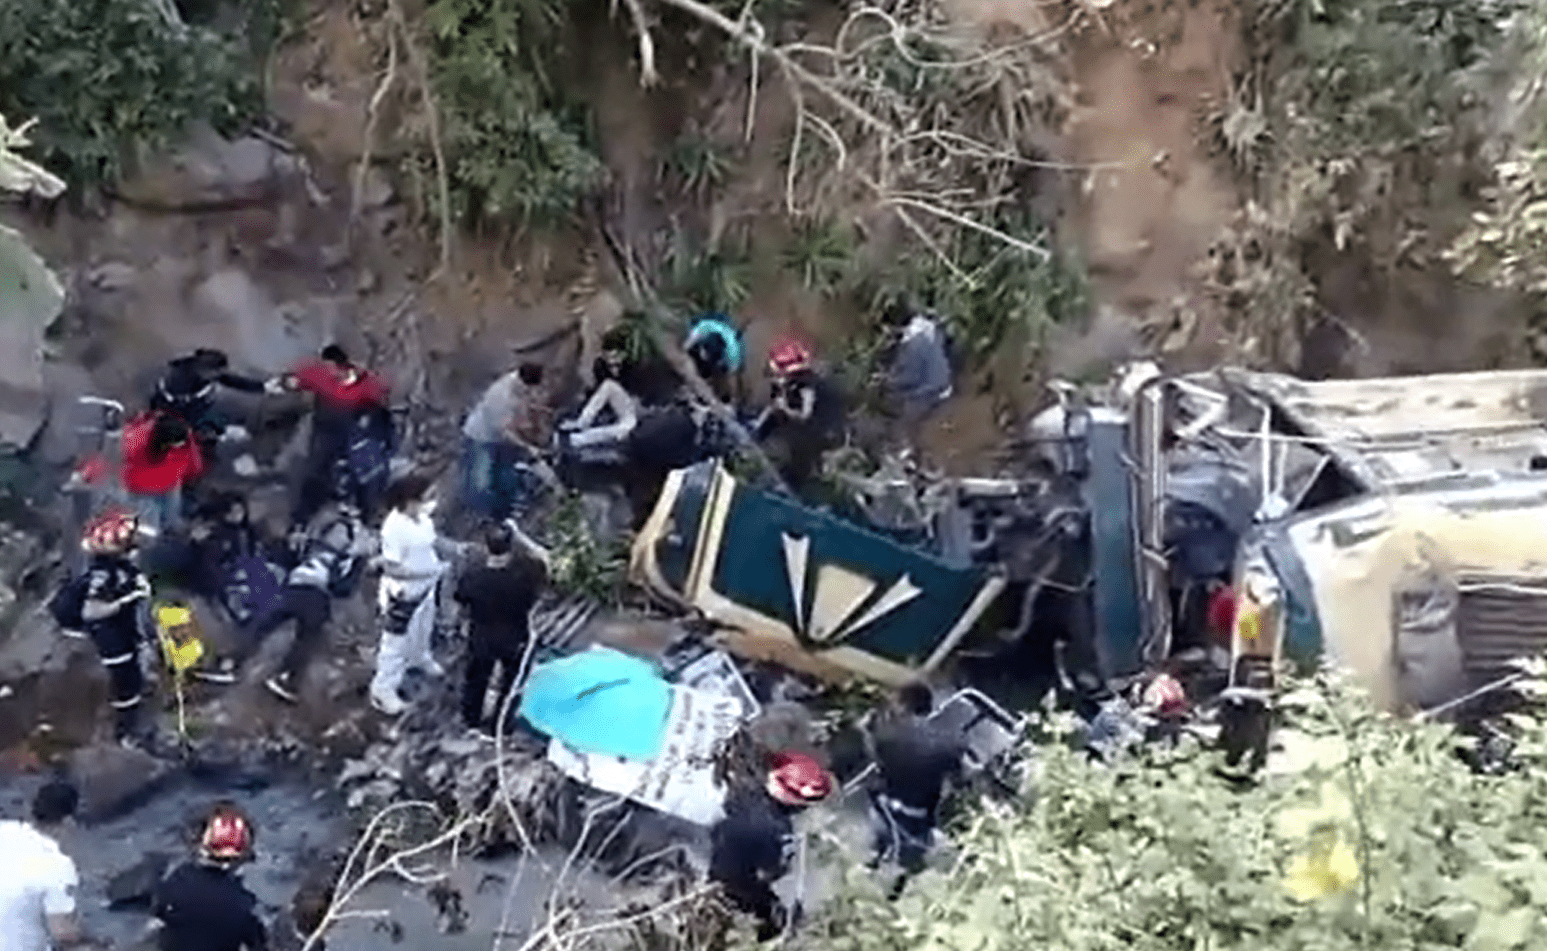
[[[87,526],[84,547],[80,620],[107,668],[113,735],[124,745],[139,745],[139,707],[145,674],[139,666],[144,640],[142,603],[150,580],[135,564],[139,520],[127,512],[108,512]]]

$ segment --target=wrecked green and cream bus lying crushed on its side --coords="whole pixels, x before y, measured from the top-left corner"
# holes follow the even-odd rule
[[[1202,659],[1241,702],[1326,657],[1380,705],[1434,711],[1547,648],[1547,371],[1140,363],[1055,390],[1019,472],[854,479],[852,512],[715,462],[673,473],[633,575],[736,653],[893,683],[953,656],[1108,685]]]

